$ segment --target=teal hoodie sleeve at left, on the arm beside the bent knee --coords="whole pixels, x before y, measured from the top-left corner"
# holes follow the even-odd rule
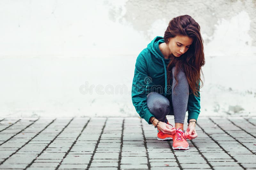
[[[139,113],[140,117],[145,119],[148,124],[150,117],[154,117],[150,113],[147,106],[146,83],[144,79],[148,76],[148,66],[144,57],[145,51],[139,54],[135,64],[134,77],[132,80],[132,103]]]

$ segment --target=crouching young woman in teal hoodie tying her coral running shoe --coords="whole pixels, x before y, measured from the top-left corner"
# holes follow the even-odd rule
[[[132,103],[140,117],[157,128],[158,140],[173,140],[173,149],[189,149],[186,139],[197,137],[204,62],[200,26],[189,15],[172,18],[164,37],[153,39],[136,60]],[[184,132],[186,111],[188,128]],[[166,115],[174,115],[175,127]]]

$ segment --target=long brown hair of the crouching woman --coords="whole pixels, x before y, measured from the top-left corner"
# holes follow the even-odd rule
[[[170,85],[172,80],[172,67],[176,67],[174,78],[176,85],[178,84],[177,75],[182,69],[188,80],[189,88],[195,96],[199,96],[199,83],[203,86],[203,81],[200,77],[202,73],[202,66],[205,64],[204,60],[204,46],[203,39],[200,33],[199,24],[189,15],[182,15],[176,18],[172,18],[169,25],[164,32],[164,41],[168,42],[169,38],[173,38],[177,35],[188,36],[193,39],[193,43],[190,45],[188,51],[182,54],[180,57],[171,55],[171,61],[167,67],[168,84]],[[175,88],[174,87],[174,88]]]

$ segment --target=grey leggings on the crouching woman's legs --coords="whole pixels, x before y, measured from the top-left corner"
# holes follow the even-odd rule
[[[175,67],[172,68],[172,77],[174,77]],[[149,111],[156,119],[167,122],[166,115],[174,115],[175,123],[184,124],[186,111],[188,111],[189,86],[186,74],[180,70],[177,75],[179,84],[173,91],[176,80],[172,81],[172,103],[163,95],[157,92],[151,92],[147,95],[147,105]]]

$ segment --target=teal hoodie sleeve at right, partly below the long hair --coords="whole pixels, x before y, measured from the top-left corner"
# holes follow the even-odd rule
[[[200,81],[198,85],[198,89],[200,89]],[[198,97],[196,97],[191,90],[189,89],[189,96],[188,96],[188,121],[189,119],[196,119],[200,113],[200,92],[198,91]]]

